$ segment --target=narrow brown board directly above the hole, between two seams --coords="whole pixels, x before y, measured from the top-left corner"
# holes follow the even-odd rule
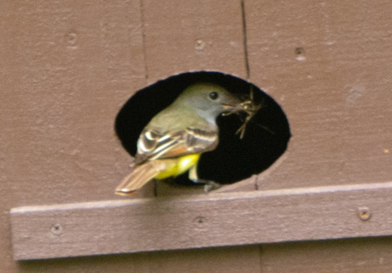
[[[239,0],[143,0],[142,14],[150,83],[195,70],[246,77]]]

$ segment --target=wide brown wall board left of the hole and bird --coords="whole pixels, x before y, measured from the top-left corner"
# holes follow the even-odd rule
[[[13,206],[113,198],[114,134],[144,85],[139,1],[1,1],[0,272],[18,272]]]

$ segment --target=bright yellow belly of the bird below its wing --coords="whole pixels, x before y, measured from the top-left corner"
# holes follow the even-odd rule
[[[200,158],[200,154],[188,154],[188,155],[181,156],[179,158],[167,159],[168,161],[170,160],[172,162],[168,164],[165,171],[159,172],[155,176],[155,178],[165,179],[171,176],[175,177],[177,175],[180,175],[188,171],[190,168],[196,166],[197,162],[199,161],[199,158]]]

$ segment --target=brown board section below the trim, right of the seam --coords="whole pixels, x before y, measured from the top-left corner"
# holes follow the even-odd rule
[[[261,272],[389,273],[392,237],[265,244]]]

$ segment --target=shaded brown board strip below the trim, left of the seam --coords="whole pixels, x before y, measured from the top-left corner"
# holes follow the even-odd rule
[[[256,273],[261,270],[257,245],[29,260],[19,261],[19,265],[20,272],[39,273]]]

